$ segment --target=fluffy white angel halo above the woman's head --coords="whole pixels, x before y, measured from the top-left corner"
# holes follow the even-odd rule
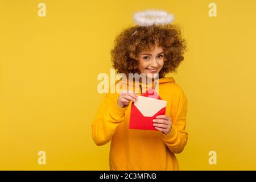
[[[173,22],[174,15],[162,10],[146,10],[135,13],[133,18],[139,26],[166,25]]]

